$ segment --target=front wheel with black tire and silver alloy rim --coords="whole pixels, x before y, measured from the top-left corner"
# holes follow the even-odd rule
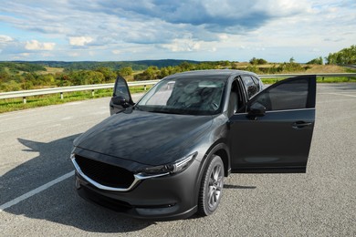
[[[221,200],[224,186],[224,163],[219,156],[213,155],[204,170],[199,191],[198,213],[202,216],[213,214]]]

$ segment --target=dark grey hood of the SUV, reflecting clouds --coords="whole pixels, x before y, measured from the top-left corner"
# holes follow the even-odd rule
[[[212,116],[129,110],[106,118],[80,135],[74,146],[123,160],[160,165],[188,155],[212,124]]]

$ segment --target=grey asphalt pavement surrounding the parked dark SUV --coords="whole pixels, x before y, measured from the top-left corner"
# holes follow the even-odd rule
[[[306,174],[232,174],[205,218],[138,221],[79,198],[71,143],[108,116],[109,98],[0,114],[0,236],[356,236],[356,84],[318,85]]]

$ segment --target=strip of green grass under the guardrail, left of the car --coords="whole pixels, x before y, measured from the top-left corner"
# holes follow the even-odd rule
[[[150,87],[147,87],[149,89]],[[143,87],[131,87],[131,93],[144,92]],[[0,113],[11,112],[16,110],[22,110],[26,108],[37,108],[49,105],[58,105],[68,102],[74,102],[79,100],[86,100],[91,98],[104,98],[111,97],[112,89],[98,89],[95,90],[94,97],[91,95],[91,90],[88,91],[77,91],[64,93],[63,99],[60,98],[59,94],[42,95],[36,97],[26,98],[26,104],[24,104],[22,98],[8,98],[0,99]]]

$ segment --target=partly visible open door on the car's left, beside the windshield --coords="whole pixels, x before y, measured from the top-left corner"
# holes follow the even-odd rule
[[[110,100],[110,115],[119,112],[122,109],[133,105],[130,89],[126,80],[122,77],[117,77],[114,86],[114,93]]]

